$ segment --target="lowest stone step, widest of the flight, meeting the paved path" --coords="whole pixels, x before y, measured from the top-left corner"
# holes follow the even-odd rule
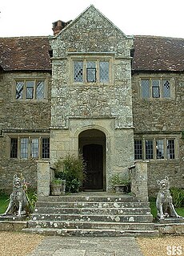
[[[90,229],[50,229],[28,228],[22,231],[31,234],[78,236],[78,237],[141,237],[158,236],[158,230],[90,230]]]

